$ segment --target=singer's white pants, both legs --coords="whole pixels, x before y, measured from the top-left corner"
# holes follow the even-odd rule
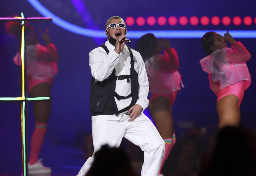
[[[130,118],[125,116],[119,121],[92,120],[93,153],[100,150],[104,144],[108,144],[110,147],[119,147],[124,137],[144,151],[141,176],[157,176],[165,153],[164,140],[151,120],[143,113],[132,122],[128,119]],[[86,160],[77,176],[85,176],[91,168],[93,160],[94,154]]]

